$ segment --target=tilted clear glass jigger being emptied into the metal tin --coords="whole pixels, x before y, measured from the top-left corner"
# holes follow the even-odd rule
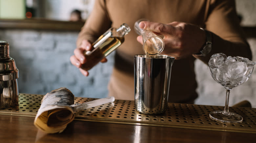
[[[149,21],[147,19],[140,19],[135,22],[134,24],[134,30],[138,35],[142,36],[143,39],[143,51],[146,54],[146,56],[155,56],[160,54],[163,51],[164,48],[164,42],[163,39],[156,34],[154,34],[152,31],[148,31],[145,29],[141,29],[139,27],[139,23],[141,21]]]

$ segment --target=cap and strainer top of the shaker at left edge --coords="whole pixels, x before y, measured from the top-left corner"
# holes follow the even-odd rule
[[[13,80],[19,77],[15,61],[10,57],[9,43],[0,41],[0,81]]]

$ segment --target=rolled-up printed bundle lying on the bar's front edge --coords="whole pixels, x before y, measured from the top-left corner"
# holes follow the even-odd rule
[[[34,125],[46,133],[61,133],[75,118],[72,104],[74,95],[65,87],[47,93],[41,101]]]

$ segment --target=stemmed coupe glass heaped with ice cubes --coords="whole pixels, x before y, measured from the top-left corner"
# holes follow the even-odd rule
[[[223,53],[211,56],[208,66],[212,78],[226,89],[226,102],[224,111],[210,112],[211,119],[228,122],[241,123],[243,118],[228,111],[229,92],[232,88],[245,83],[251,75],[256,62],[247,58],[236,56],[226,56]]]

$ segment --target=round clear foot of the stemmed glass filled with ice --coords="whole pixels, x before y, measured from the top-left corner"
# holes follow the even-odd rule
[[[228,122],[228,123],[241,123],[243,121],[243,117],[229,112],[228,114],[224,114],[223,111],[213,111],[209,114],[210,118],[213,120]]]

